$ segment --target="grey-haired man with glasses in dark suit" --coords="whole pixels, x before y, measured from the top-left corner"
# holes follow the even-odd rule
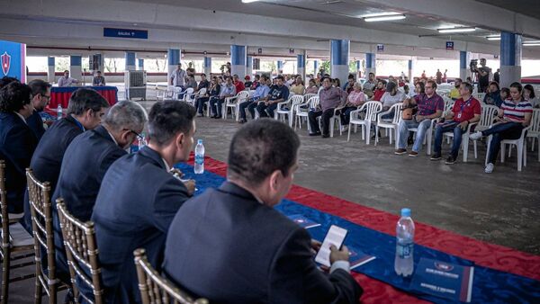
[[[115,160],[127,154],[124,148],[130,147],[146,121],[147,114],[138,103],[116,103],[105,114],[101,126],[78,135],[67,147],[52,195],[58,277],[69,278],[69,268],[56,200],[63,198],[67,210],[76,219],[90,220],[105,172]]]

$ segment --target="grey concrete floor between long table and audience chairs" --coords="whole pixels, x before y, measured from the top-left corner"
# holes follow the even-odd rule
[[[155,99],[148,89],[148,100]],[[119,92],[122,98],[123,92]],[[139,102],[149,109],[155,102]],[[240,125],[228,119],[196,119],[196,139],[203,139],[206,154],[226,162],[229,142]],[[297,130],[302,140],[300,168],[294,183],[347,201],[399,214],[412,210],[415,221],[478,240],[540,255],[540,162],[528,151],[528,164],[517,170],[513,156],[483,173],[485,148],[479,158],[462,158],[455,165],[431,162],[425,150],[416,158],[395,156],[384,138],[377,147],[365,145],[361,133],[333,139],[307,136],[305,124]],[[472,149],[472,147],[471,147]],[[443,155],[449,146],[443,147]],[[461,157],[461,156],[460,156]],[[14,273],[32,272],[26,267]],[[34,279],[10,287],[10,303],[33,302]],[[58,295],[63,300],[65,291]],[[43,303],[47,303],[44,297]]]

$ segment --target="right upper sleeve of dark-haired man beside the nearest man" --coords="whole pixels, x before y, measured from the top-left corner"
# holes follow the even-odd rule
[[[154,203],[154,226],[166,234],[171,222],[175,218],[176,211],[189,199],[189,194],[184,183],[173,177],[166,181],[157,191]]]

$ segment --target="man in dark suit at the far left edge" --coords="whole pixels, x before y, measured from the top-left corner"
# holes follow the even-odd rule
[[[8,212],[23,212],[26,168],[36,148],[36,138],[26,124],[33,112],[31,88],[14,81],[0,91],[0,159],[5,161]]]

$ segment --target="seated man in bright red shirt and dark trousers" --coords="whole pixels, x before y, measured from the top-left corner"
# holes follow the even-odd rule
[[[445,120],[437,123],[433,147],[434,154],[431,156],[431,160],[441,159],[443,134],[454,131],[454,142],[450,155],[446,158],[446,165],[455,164],[459,148],[461,148],[463,133],[467,131],[470,124],[480,121],[482,107],[480,102],[471,95],[472,93],[473,85],[466,82],[460,85],[459,94],[461,94],[461,98],[455,101],[452,112],[446,114]]]

